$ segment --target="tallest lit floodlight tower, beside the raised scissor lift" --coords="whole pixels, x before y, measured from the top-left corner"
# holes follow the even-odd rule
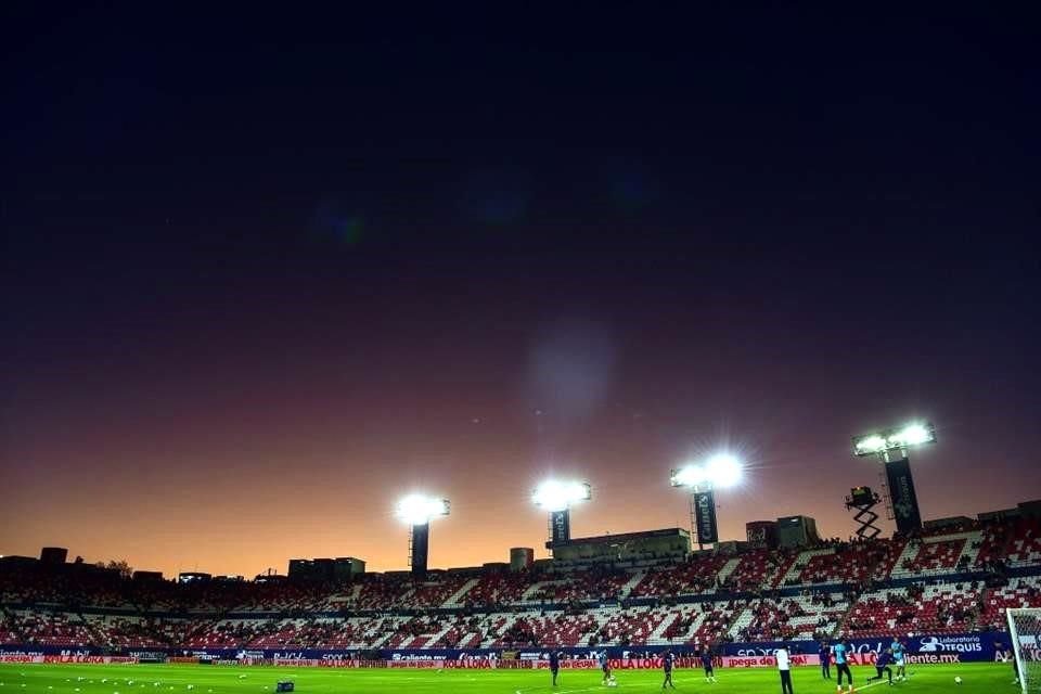
[[[875,457],[884,466],[889,510],[901,534],[922,528],[922,512],[918,511],[918,498],[914,492],[908,451],[935,442],[936,427],[930,422],[911,422],[853,437],[853,455]]]

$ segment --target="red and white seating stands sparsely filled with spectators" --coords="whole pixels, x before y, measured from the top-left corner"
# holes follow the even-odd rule
[[[611,646],[684,654],[785,641],[815,653],[813,640],[838,635],[1000,632],[1006,607],[1041,606],[1037,517],[973,520],[914,538],[731,549],[432,571],[424,580],[369,574],[343,583],[182,584],[3,561],[0,652]]]

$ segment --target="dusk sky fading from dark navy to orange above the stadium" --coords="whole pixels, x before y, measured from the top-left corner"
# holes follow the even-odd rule
[[[422,490],[432,566],[542,556],[545,476],[576,536],[689,527],[720,447],[724,537],[845,537],[911,417],[926,518],[1041,497],[1036,16],[44,5],[0,10],[2,554],[400,569]]]

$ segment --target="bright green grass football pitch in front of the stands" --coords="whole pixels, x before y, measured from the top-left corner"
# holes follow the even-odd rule
[[[857,691],[887,691],[885,684],[868,684],[874,668],[854,668]],[[463,694],[558,694],[660,690],[661,673],[654,670],[621,670],[617,686],[605,687],[594,670],[562,670],[557,686],[550,685],[544,670],[348,670],[292,667],[222,667],[202,665],[0,665],[0,694],[262,694],[273,693],[279,680],[292,680],[299,694],[410,694],[461,692]],[[961,677],[963,683],[955,684]],[[717,670],[716,684],[705,682],[698,670],[677,670],[678,692],[745,694],[780,692],[777,673],[768,669]],[[821,679],[817,668],[793,671],[795,694],[835,691],[834,682]],[[989,663],[914,666],[911,678],[892,690],[927,694],[946,692],[1017,694],[1012,667]],[[845,689],[845,687],[844,687]]]

